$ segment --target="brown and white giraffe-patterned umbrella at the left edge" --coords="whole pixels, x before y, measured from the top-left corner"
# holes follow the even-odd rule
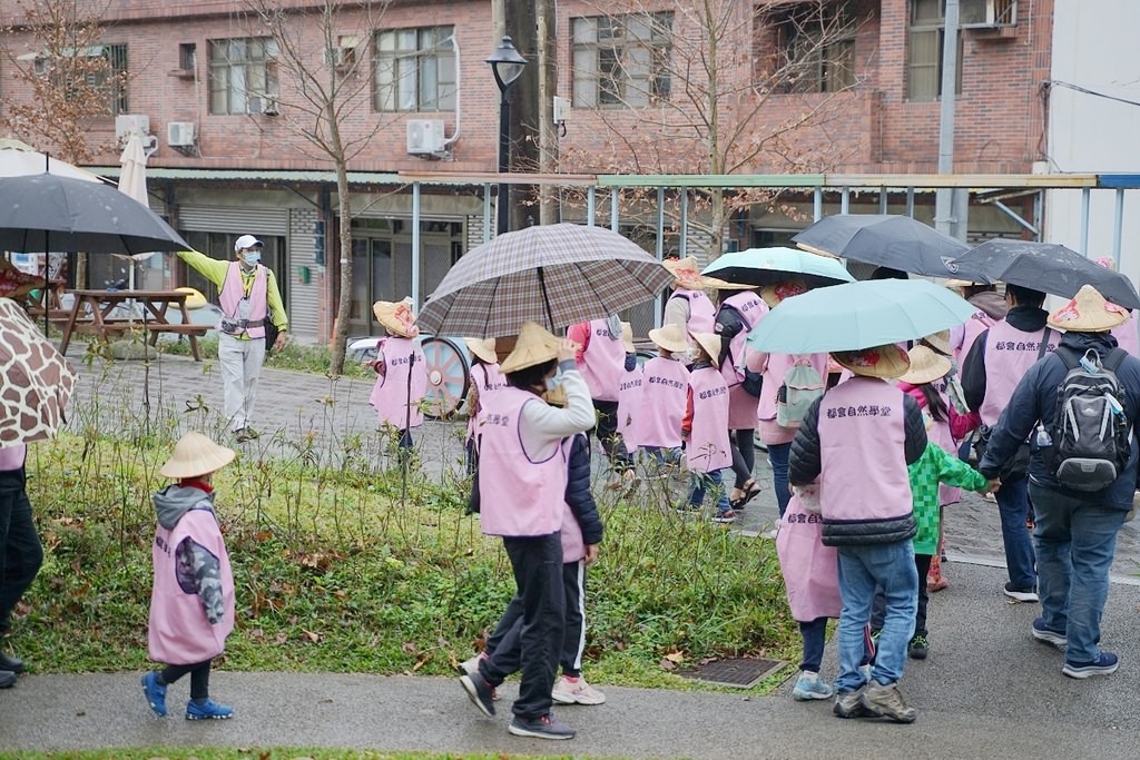
[[[51,438],[78,375],[9,299],[0,299],[0,447]]]

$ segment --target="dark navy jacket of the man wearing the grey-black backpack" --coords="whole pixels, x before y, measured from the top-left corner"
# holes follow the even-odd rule
[[[1101,357],[1116,348],[1116,338],[1109,333],[1066,333],[1061,337],[1061,346],[1070,348],[1080,353],[1096,349]],[[1045,460],[1047,449],[1037,443],[1037,436],[1031,433],[1037,423],[1051,435],[1057,411],[1057,390],[1068,368],[1065,361],[1050,354],[1033,365],[1025,374],[1017,390],[1013,391],[1009,406],[1002,411],[997,424],[990,436],[986,453],[978,463],[978,471],[988,479],[997,476],[1001,465],[1017,451],[1021,441],[1029,439],[1029,481],[1036,485],[1061,492],[1075,499],[1096,501],[1102,506],[1131,509],[1132,495],[1137,483],[1137,441],[1132,436],[1132,456],[1116,481],[1102,491],[1073,491],[1064,488],[1054,477],[1052,467]],[[1134,426],[1140,418],[1140,359],[1125,357],[1116,371],[1116,377],[1124,390],[1124,412]]]

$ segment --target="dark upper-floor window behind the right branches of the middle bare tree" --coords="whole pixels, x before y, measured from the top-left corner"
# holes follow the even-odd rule
[[[845,6],[804,6],[775,19],[777,79],[785,92],[839,92],[855,84],[855,22]]]

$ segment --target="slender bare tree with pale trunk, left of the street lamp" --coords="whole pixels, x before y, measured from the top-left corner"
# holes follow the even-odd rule
[[[340,216],[340,297],[333,333],[331,371],[344,370],[352,304],[352,204],[349,162],[360,154],[383,122],[368,112],[372,36],[391,0],[320,0],[299,8],[284,0],[252,0],[250,9],[276,43],[267,87],[276,88],[277,116],[303,137],[310,155],[332,162]],[[347,128],[348,124],[352,126]],[[364,126],[361,129],[361,126]]]

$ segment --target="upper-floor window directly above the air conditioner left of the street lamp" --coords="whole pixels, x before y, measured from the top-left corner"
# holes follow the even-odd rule
[[[455,111],[454,28],[376,33],[376,111]]]

